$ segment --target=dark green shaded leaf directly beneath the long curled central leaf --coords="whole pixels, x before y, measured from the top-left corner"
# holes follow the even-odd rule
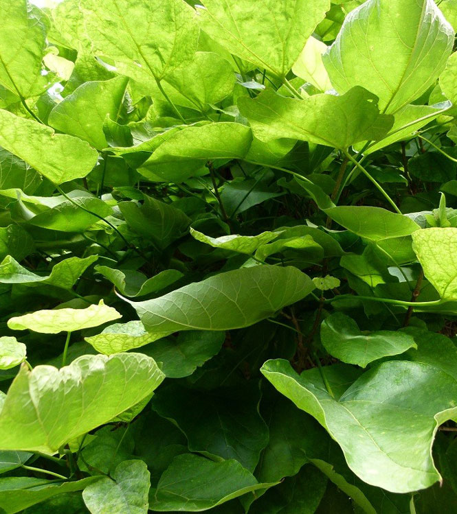
[[[155,334],[155,337],[166,335]],[[197,367],[216,355],[224,340],[223,332],[187,331],[177,337],[156,341],[145,348],[144,353],[161,363],[161,371],[166,377],[182,378],[192,375]]]

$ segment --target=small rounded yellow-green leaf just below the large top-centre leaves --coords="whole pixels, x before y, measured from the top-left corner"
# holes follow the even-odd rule
[[[197,51],[185,66],[172,71],[166,82],[202,113],[230,95],[235,75],[230,62],[207,51]]]

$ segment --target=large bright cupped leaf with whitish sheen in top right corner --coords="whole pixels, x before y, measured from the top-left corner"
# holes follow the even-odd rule
[[[346,16],[323,59],[339,93],[366,87],[393,114],[434,84],[453,42],[454,30],[432,0],[368,0]]]

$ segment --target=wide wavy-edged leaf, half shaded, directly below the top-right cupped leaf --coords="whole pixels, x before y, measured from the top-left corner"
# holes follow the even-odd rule
[[[359,86],[345,95],[304,100],[266,89],[254,100],[241,97],[240,112],[263,141],[287,137],[346,150],[358,141],[382,139],[394,118],[379,114],[377,97]]]

